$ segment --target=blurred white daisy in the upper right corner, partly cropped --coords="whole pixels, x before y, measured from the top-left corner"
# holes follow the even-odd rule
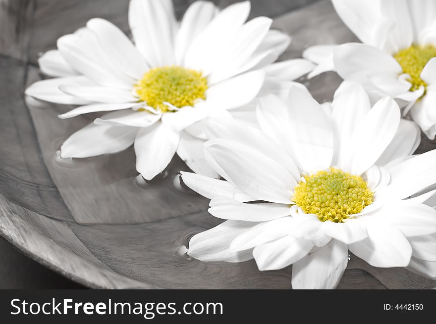
[[[310,77],[334,70],[360,82],[373,97],[389,95],[435,138],[436,0],[332,3],[363,44],[309,47],[303,56],[319,63]]]

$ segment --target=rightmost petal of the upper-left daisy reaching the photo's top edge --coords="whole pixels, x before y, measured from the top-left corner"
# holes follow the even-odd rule
[[[184,66],[209,75],[222,54],[222,48],[225,48],[229,39],[247,19],[250,8],[250,2],[243,1],[229,5],[220,11],[203,32],[193,40],[186,52]]]

